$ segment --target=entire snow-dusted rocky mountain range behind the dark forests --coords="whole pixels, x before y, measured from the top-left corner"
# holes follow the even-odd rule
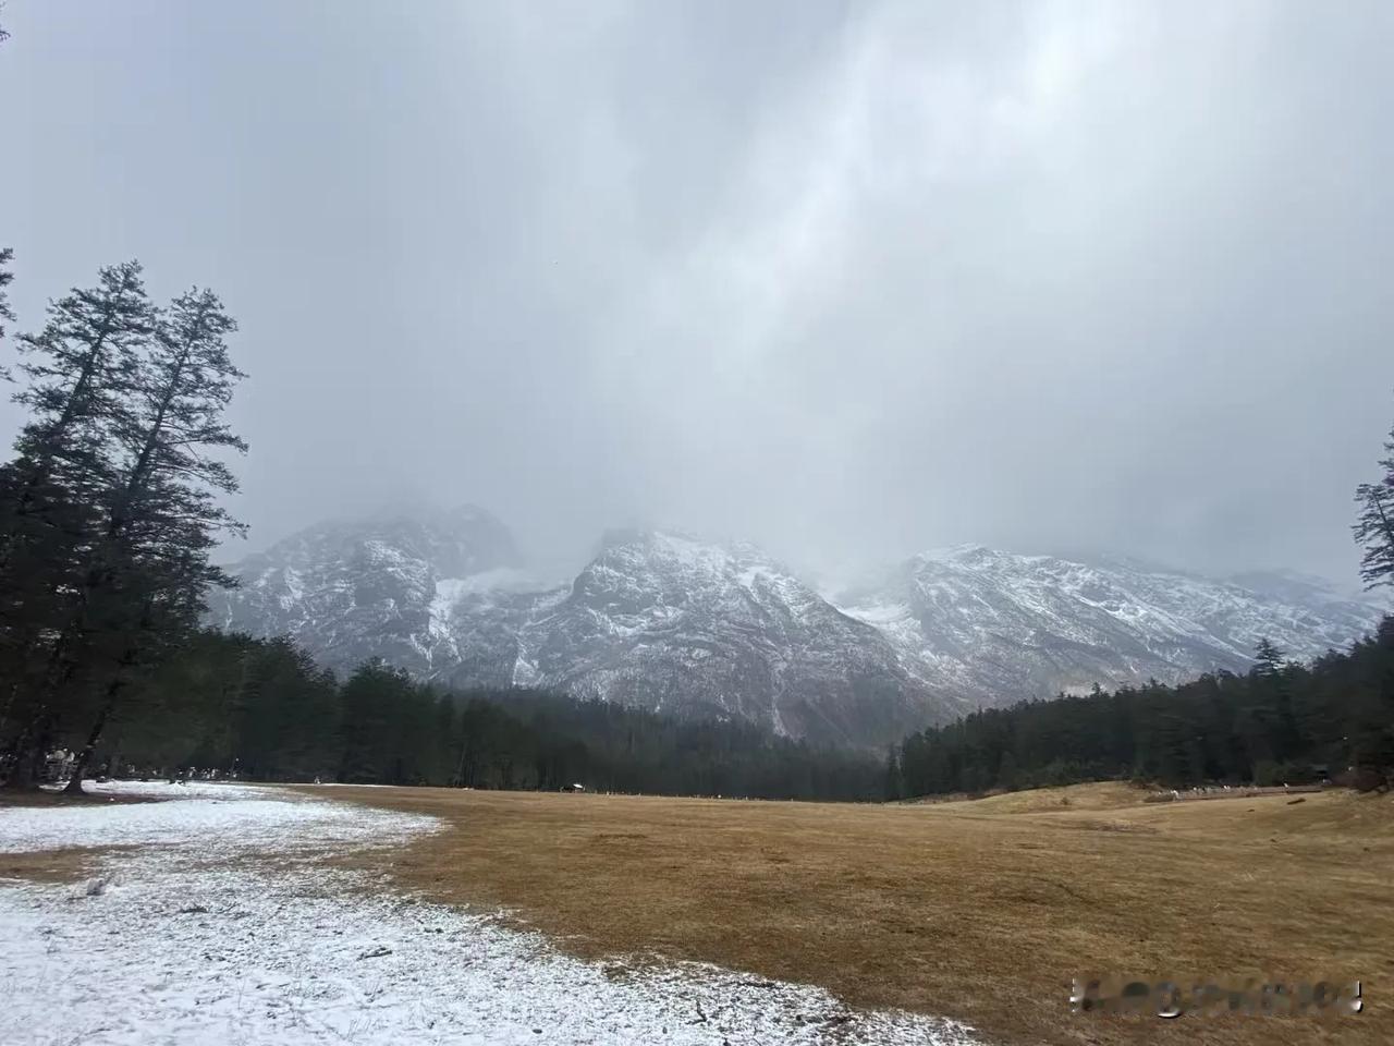
[[[566,586],[527,582],[477,508],[330,523],[234,568],[213,623],[289,635],[348,672],[382,657],[449,686],[539,686],[815,742],[881,745],[980,704],[1243,671],[1379,611],[1294,575],[1213,582],[981,547],[926,554],[829,601],[747,544],[615,531]]]

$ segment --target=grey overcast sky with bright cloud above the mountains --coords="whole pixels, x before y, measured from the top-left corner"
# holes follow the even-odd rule
[[[555,572],[648,523],[828,573],[981,541],[1355,580],[1394,421],[1387,0],[0,24],[17,328],[124,258],[215,287],[251,547],[432,499]]]

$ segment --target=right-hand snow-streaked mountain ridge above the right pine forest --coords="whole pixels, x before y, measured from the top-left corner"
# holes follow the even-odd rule
[[[914,556],[836,602],[887,635],[927,688],[981,704],[1242,672],[1263,637],[1310,658],[1373,630],[1381,615],[1301,575],[1218,582],[981,545]]]

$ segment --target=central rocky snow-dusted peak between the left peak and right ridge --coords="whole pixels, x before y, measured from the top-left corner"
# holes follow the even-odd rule
[[[779,734],[881,743],[952,711],[887,639],[747,544],[612,533],[520,629],[517,682]]]

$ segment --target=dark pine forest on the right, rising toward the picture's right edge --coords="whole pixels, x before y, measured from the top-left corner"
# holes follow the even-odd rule
[[[1299,784],[1394,768],[1394,616],[1347,653],[1248,675],[1025,702],[913,734],[892,792],[934,795],[1133,778],[1167,787]]]

